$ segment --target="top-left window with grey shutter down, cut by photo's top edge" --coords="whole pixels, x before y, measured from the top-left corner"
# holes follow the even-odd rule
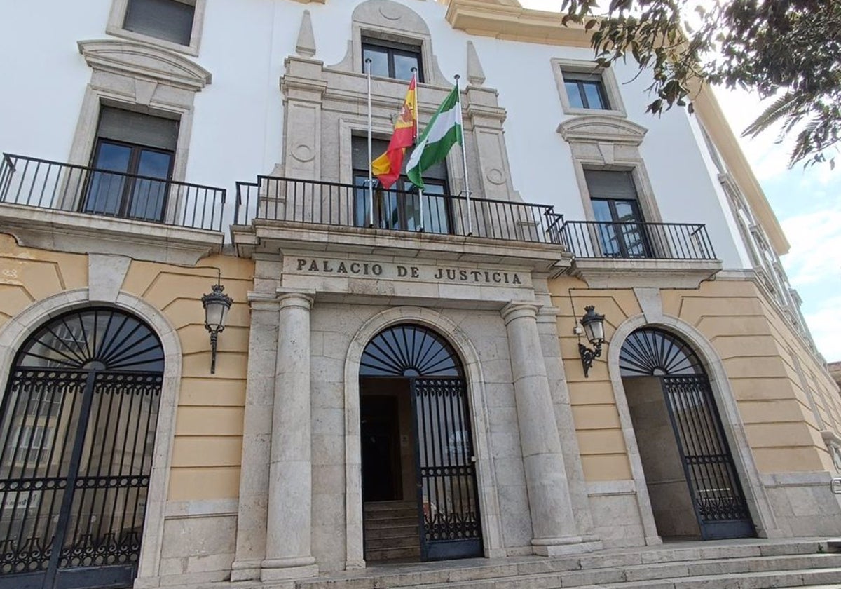
[[[189,46],[195,12],[194,3],[180,0],[128,0],[123,29]]]

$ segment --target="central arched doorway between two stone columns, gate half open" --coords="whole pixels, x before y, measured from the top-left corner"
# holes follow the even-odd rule
[[[414,324],[379,332],[359,393],[366,560],[481,556],[467,381],[450,343]]]

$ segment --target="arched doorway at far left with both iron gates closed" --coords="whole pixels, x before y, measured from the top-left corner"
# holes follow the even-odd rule
[[[0,403],[0,589],[133,585],[163,369],[151,328],[111,308],[24,342]]]

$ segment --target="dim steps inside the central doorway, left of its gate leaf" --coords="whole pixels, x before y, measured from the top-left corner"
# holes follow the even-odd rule
[[[363,506],[365,560],[419,560],[421,536],[415,501],[368,501]]]

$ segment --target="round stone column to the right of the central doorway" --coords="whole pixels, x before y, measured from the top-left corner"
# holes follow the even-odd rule
[[[543,556],[590,549],[577,533],[563,450],[546,364],[537,330],[535,304],[512,302],[501,311],[508,330],[517,424],[532,513],[532,549]]]

